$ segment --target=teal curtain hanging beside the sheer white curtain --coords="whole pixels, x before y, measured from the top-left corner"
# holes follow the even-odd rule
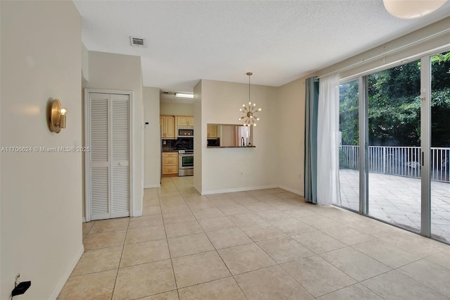
[[[319,78],[307,78],[305,87],[304,199],[311,203],[317,203],[317,111],[319,106]]]

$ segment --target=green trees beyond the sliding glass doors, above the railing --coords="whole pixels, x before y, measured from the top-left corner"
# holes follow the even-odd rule
[[[432,56],[432,146],[450,146],[450,52]],[[368,140],[420,145],[420,61],[368,75]],[[358,143],[358,81],[340,85],[342,144]]]

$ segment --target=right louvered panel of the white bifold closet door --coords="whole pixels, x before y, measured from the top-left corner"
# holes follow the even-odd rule
[[[111,217],[129,216],[129,95],[111,94]]]

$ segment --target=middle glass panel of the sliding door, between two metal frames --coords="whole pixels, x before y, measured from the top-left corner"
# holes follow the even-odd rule
[[[368,215],[420,232],[420,61],[367,82]]]

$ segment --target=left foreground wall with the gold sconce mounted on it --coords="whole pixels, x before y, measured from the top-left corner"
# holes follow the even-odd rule
[[[81,17],[72,1],[1,1],[1,146],[72,146],[82,139]],[[68,108],[50,132],[49,104]],[[82,154],[1,153],[1,286],[32,281],[20,299],[54,299],[83,252]]]

